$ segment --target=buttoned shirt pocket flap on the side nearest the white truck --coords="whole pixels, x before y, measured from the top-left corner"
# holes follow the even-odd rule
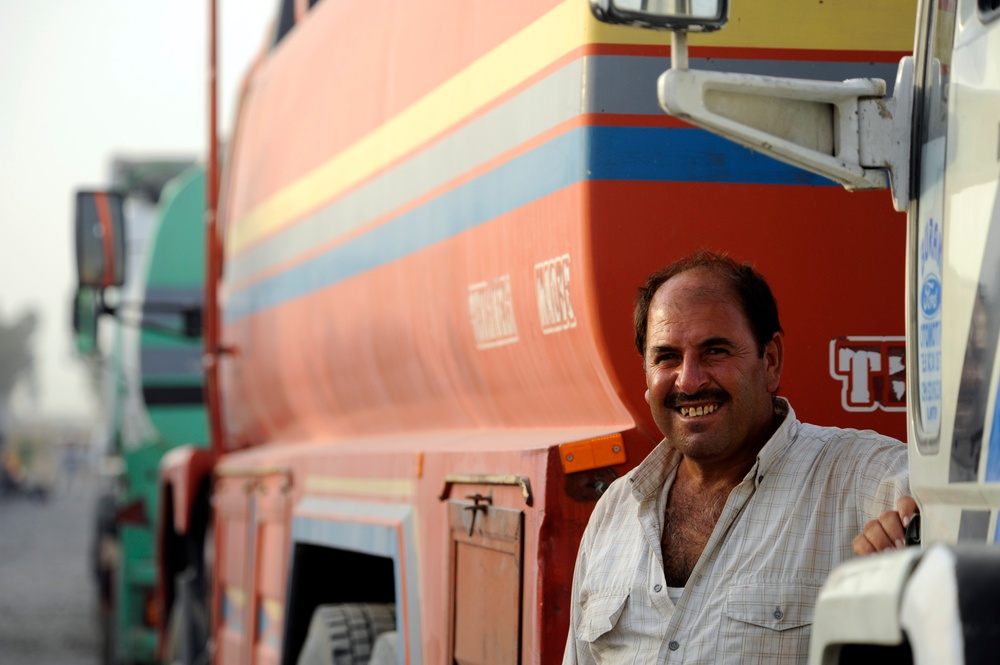
[[[726,596],[726,616],[778,632],[810,626],[821,586],[802,581],[733,584]]]

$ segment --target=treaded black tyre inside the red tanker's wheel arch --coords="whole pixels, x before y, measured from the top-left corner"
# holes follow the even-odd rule
[[[392,604],[320,605],[313,610],[298,665],[368,665],[375,638],[395,628]]]

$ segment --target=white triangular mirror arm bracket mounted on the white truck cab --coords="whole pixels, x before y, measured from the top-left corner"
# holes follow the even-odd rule
[[[667,113],[847,189],[885,188],[891,174],[893,204],[905,210],[912,78],[912,59],[904,58],[897,97],[886,99],[881,79],[838,83],[670,69],[657,91]],[[823,132],[827,138],[817,138]]]

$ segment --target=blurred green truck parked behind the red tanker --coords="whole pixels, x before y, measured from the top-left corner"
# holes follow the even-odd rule
[[[116,160],[124,200],[129,276],[118,292],[77,306],[80,350],[105,383],[106,454],[93,560],[101,596],[105,660],[154,663],[159,604],[156,534],[159,462],[182,443],[208,441],[202,399],[204,174],[183,160]],[[81,206],[90,194],[81,194]],[[114,300],[113,300],[114,298]],[[95,308],[113,310],[98,335]],[[103,328],[103,326],[102,326]],[[98,339],[110,337],[101,352]]]

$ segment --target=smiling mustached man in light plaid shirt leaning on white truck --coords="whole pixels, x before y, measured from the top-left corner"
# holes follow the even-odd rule
[[[749,265],[699,252],[651,275],[635,341],[664,439],[594,510],[564,664],[805,662],[833,567],[902,546],[906,446],[795,418]]]

